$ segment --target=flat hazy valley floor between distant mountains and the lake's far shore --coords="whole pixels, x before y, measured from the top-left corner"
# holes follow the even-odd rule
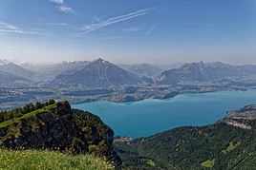
[[[203,93],[222,90],[246,90],[253,85],[128,85],[108,88],[77,88],[50,86],[1,86],[0,110],[16,106],[45,102],[48,99],[68,100],[71,104],[94,101],[116,103],[135,102],[144,99],[167,99],[182,93]]]

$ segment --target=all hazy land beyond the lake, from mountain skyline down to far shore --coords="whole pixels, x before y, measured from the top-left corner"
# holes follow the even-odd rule
[[[73,104],[101,100],[119,103],[255,86],[253,65],[200,62],[169,67],[116,65],[103,59],[40,66],[1,61],[1,105],[11,108],[49,98]]]

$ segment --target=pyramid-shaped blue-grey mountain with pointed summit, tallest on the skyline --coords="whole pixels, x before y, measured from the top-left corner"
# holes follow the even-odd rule
[[[58,75],[52,85],[106,87],[112,85],[138,85],[143,79],[102,59],[97,59],[83,69]]]

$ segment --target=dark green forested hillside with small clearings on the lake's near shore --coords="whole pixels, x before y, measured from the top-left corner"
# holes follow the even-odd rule
[[[125,169],[252,169],[256,105],[230,112],[215,124],[180,127],[115,146]]]

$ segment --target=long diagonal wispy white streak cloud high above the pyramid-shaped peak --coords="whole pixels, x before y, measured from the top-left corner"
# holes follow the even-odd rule
[[[93,32],[99,28],[105,28],[108,27],[110,25],[113,24],[117,24],[119,22],[123,22],[123,21],[127,21],[127,20],[131,20],[133,18],[137,18],[139,16],[143,16],[146,14],[149,14],[151,10],[153,10],[155,8],[149,8],[149,9],[139,9],[137,11],[128,13],[128,14],[124,14],[124,15],[120,15],[120,16],[115,16],[115,17],[110,17],[104,21],[98,22],[96,24],[91,24],[91,25],[85,25],[82,30],[85,33],[89,33],[89,32]]]

